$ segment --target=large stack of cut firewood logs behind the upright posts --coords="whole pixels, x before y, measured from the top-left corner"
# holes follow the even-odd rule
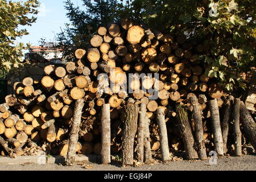
[[[27,77],[13,85],[15,93],[6,96],[6,103],[0,105],[0,139],[9,143],[9,155],[23,155],[22,148],[28,139],[38,146],[49,143],[54,155],[66,155],[75,101],[83,98],[85,106],[76,151],[100,154],[99,114],[102,105],[108,103],[111,152],[117,154],[122,143],[120,113],[127,100],[133,98],[135,104],[146,104],[151,120],[151,150],[158,150],[160,145],[155,113],[163,108],[170,147],[178,151],[182,142],[172,121],[177,116],[175,105],[190,107],[189,98],[195,94],[205,118],[205,129],[210,117],[207,100],[218,98],[219,107],[223,104],[223,89],[205,76],[206,65],[200,60],[201,53],[207,51],[208,44],[187,42],[183,35],[162,34],[130,19],[99,27],[89,46],[75,51],[77,60],[66,65],[48,65],[41,80]],[[129,73],[138,73],[130,78],[131,82]],[[138,78],[141,73],[146,74],[143,79]],[[153,73],[153,77],[147,73]],[[159,79],[154,73],[159,74]],[[150,100],[154,93],[142,88],[157,90],[157,99]],[[204,139],[208,135],[203,134]]]

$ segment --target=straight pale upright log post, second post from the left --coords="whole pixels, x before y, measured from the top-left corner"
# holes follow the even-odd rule
[[[101,160],[102,164],[111,163],[110,156],[110,105],[104,104],[101,113]]]

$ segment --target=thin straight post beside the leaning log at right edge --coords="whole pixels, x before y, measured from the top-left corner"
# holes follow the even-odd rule
[[[233,109],[233,119],[234,119],[234,141],[235,141],[235,155],[242,155],[242,133],[240,131],[240,99],[236,98],[234,101]]]

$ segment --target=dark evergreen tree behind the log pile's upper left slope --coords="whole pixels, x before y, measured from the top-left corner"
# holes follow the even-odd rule
[[[82,0],[82,3],[83,6],[78,7],[70,0],[65,1],[66,15],[71,24],[66,23],[57,40],[64,49],[64,56],[69,56],[67,59],[73,59],[73,47],[86,47],[97,27],[117,20],[118,0]]]

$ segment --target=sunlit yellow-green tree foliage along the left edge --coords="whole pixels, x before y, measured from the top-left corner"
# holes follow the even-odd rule
[[[36,18],[36,8],[39,2],[6,1],[0,0],[0,70],[1,77],[5,76],[11,68],[18,68],[22,60],[22,49],[29,45],[17,43],[16,39],[27,35],[26,29],[19,26],[31,26]],[[18,30],[19,27],[19,30]]]

